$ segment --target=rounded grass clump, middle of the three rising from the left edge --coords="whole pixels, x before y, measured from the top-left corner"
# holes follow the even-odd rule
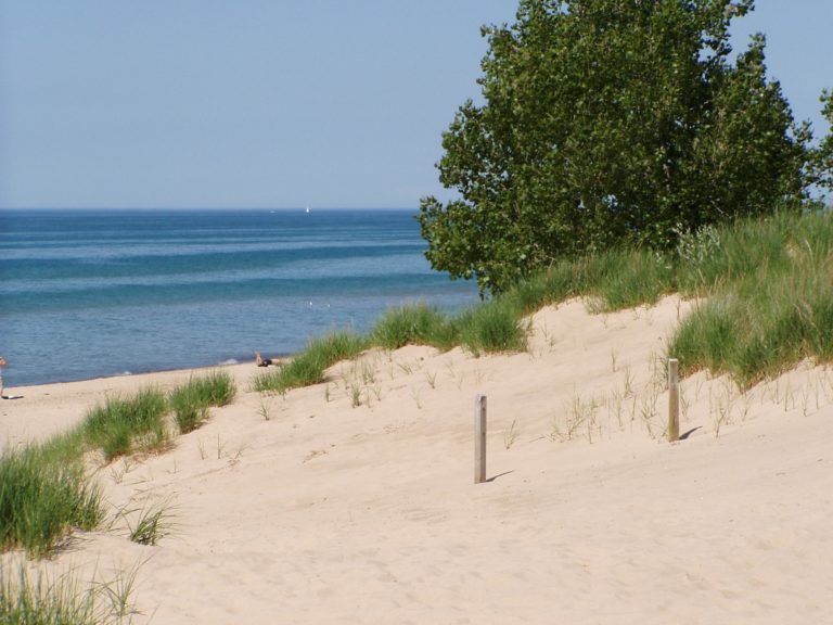
[[[87,414],[84,423],[87,442],[101,449],[107,461],[136,449],[155,451],[169,442],[164,416],[168,403],[157,388],[143,388],[133,397],[110,397]]]

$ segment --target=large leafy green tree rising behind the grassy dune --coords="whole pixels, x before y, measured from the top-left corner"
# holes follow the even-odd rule
[[[732,58],[752,8],[521,0],[484,28],[484,103],[459,109],[438,163],[459,199],[421,203],[432,266],[500,292],[556,258],[800,206],[824,156],[767,79],[764,37]]]

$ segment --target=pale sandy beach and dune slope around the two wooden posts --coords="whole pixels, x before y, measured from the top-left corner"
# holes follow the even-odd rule
[[[574,301],[531,318],[523,354],[374,350],[285,396],[251,391],[253,363],[226,367],[238,396],[207,424],[97,468],[113,513],[166,502],[169,535],[137,545],[123,519],[30,565],[136,571],[137,624],[833,623],[833,370],[743,394],[685,378],[669,444],[664,352],[690,306]],[[195,373],[7,379],[24,397],[0,403],[0,439]]]

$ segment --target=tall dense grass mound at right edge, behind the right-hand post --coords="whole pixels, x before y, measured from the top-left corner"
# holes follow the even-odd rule
[[[779,215],[717,231],[682,282],[707,297],[668,344],[685,372],[752,385],[804,358],[833,360],[833,219]]]

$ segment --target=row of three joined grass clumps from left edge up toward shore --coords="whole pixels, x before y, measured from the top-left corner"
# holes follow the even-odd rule
[[[108,398],[75,430],[40,445],[5,450],[0,457],[0,550],[23,547],[42,556],[71,530],[99,526],[104,503],[85,473],[88,451],[99,451],[110,462],[134,451],[164,449],[170,441],[165,417],[171,407],[178,416],[204,419],[208,406],[228,404],[235,393],[233,380],[222,371],[194,378],[169,397],[143,388],[132,397]],[[184,433],[193,426],[180,423],[180,429]],[[156,515],[154,536],[161,535],[164,516]]]

